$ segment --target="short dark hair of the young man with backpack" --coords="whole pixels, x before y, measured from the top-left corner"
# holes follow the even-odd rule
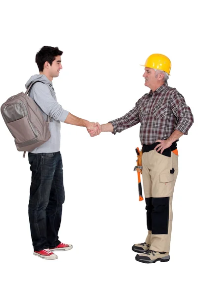
[[[62,55],[62,51],[58,49],[58,47],[48,47],[44,46],[40,49],[39,52],[37,52],[35,62],[38,65],[39,71],[43,72],[44,70],[44,64],[46,61],[49,62],[50,65],[52,65],[52,62],[55,60],[55,57],[58,55]]]

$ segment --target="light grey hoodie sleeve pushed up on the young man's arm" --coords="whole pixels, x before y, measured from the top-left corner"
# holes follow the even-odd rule
[[[32,87],[31,91],[35,102],[46,115],[49,115],[57,121],[65,121],[69,112],[64,110],[53,98],[47,85],[38,82]]]

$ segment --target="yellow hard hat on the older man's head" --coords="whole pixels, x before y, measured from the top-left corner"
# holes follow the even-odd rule
[[[166,72],[167,74],[170,74],[170,70],[171,70],[170,59],[162,54],[150,55],[147,58],[145,65],[142,65],[142,66],[153,68],[156,70],[161,70]]]

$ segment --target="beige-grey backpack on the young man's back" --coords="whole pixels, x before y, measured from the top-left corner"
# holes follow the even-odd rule
[[[18,151],[32,151],[41,146],[50,138],[49,119],[44,119],[40,108],[35,101],[28,96],[28,92],[34,83],[30,84],[25,93],[9,97],[0,108],[3,120],[14,137]]]

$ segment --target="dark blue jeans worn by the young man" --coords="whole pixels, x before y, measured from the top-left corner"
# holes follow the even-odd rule
[[[58,230],[65,200],[60,152],[28,153],[32,182],[29,220],[35,251],[54,248],[60,243]]]

